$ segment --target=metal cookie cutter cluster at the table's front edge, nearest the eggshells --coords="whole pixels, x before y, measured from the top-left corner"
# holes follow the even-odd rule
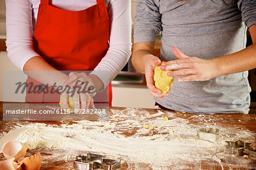
[[[85,156],[76,156],[76,160],[74,161],[74,167],[76,170],[114,170],[121,167],[121,161],[115,159],[108,159],[105,157],[105,155],[87,153],[87,155]]]

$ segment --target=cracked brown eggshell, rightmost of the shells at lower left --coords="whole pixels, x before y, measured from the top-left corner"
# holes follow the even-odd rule
[[[30,157],[21,157],[18,160],[23,170],[38,170],[42,165],[41,154],[38,152]]]

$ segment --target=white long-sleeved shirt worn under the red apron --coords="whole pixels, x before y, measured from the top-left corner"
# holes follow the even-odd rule
[[[96,3],[96,0],[51,1],[52,6],[70,11],[84,10]],[[94,69],[96,72],[93,72],[102,80],[104,87],[117,76],[131,55],[131,2],[105,0],[105,3],[110,19],[109,50]],[[29,59],[39,56],[32,45],[39,4],[40,0],[6,0],[7,52],[20,70]],[[106,72],[109,76],[106,76]]]

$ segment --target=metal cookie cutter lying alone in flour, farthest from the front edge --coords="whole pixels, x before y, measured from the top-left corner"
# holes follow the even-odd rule
[[[218,132],[220,132],[218,128],[200,128],[197,130],[197,138],[209,142],[216,142],[219,137]]]

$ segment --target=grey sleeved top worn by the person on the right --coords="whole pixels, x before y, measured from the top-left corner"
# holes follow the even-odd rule
[[[255,0],[137,0],[134,43],[162,39],[161,59],[185,55],[213,59],[245,48],[246,27],[256,24]],[[168,97],[155,98],[172,110],[192,113],[248,113],[248,72],[208,81],[177,82]]]

